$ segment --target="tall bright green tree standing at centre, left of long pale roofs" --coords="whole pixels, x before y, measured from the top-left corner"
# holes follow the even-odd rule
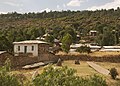
[[[72,36],[67,33],[62,39],[62,50],[68,53],[71,44],[72,44]]]

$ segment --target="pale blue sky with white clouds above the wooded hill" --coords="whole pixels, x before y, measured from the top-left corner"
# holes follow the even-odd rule
[[[116,9],[120,0],[0,0],[0,13]]]

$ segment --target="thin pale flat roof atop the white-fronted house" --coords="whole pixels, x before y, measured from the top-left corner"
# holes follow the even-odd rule
[[[13,44],[47,44],[47,42],[39,41],[39,40],[26,40],[20,42],[13,42]]]

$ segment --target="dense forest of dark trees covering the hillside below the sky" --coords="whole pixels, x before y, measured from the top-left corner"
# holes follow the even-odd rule
[[[120,36],[119,14],[119,7],[116,10],[1,14],[0,50],[11,52],[12,42],[35,39],[44,33],[50,34],[46,38],[50,43],[55,38],[62,42],[63,38],[66,38],[66,34],[71,35],[71,41],[75,43],[80,39],[85,40],[90,30],[98,32],[98,36],[92,40],[93,42],[97,42],[99,45],[116,45],[119,44]],[[80,35],[79,40],[76,35]]]

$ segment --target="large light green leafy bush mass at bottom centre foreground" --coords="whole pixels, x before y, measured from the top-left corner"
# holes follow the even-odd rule
[[[97,75],[82,78],[75,75],[76,70],[63,66],[48,66],[34,80],[35,86],[107,86],[106,81]]]

